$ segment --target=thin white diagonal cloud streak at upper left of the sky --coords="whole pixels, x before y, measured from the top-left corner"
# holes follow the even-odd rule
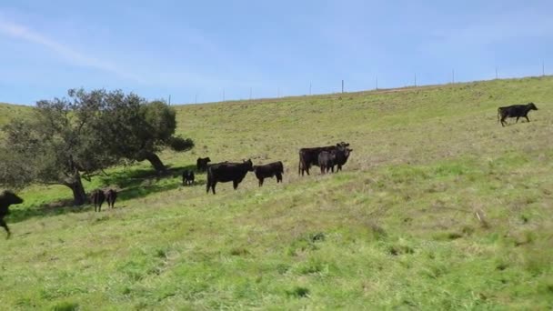
[[[112,63],[75,51],[70,46],[56,42],[55,40],[40,33],[37,33],[25,27],[24,25],[18,25],[13,22],[3,20],[1,19],[1,16],[0,34],[8,35],[19,40],[25,40],[26,42],[35,45],[44,46],[45,48],[55,52],[55,54],[64,58],[66,61],[71,62],[75,65],[96,68],[126,79],[134,80],[136,82],[142,82],[142,79],[140,79],[138,76],[132,75]]]

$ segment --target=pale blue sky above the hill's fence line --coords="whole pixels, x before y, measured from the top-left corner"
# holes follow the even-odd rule
[[[1,1],[0,102],[178,104],[553,74],[553,1]]]

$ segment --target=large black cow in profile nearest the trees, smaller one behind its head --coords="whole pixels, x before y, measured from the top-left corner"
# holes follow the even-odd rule
[[[247,172],[254,170],[252,160],[249,159],[243,163],[222,162],[207,167],[207,186],[206,192],[209,193],[209,188],[215,195],[215,186],[217,182],[226,183],[232,181],[232,186],[238,187],[242,182]]]

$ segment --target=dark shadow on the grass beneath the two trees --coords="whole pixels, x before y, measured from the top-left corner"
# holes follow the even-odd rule
[[[168,167],[166,174],[159,175],[149,168],[122,170],[108,176],[100,176],[100,183],[105,187],[115,187],[118,191],[116,208],[121,203],[152,194],[174,190],[182,186],[182,173],[184,170],[196,171],[196,166]],[[197,174],[195,172],[195,174]],[[174,179],[174,180],[172,180]],[[205,182],[197,182],[194,186],[205,185]],[[186,186],[188,187],[188,186]],[[90,193],[94,189],[88,189]],[[106,203],[105,206],[106,208]],[[73,206],[73,199],[67,198],[47,203],[41,206],[29,206],[25,209],[18,209],[16,206],[10,208],[8,223],[18,223],[37,216],[58,216],[69,213],[83,213],[94,211],[94,206]]]

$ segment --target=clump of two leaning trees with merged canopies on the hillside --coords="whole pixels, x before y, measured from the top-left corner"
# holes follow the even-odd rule
[[[64,185],[75,205],[87,201],[82,178],[116,164],[148,160],[166,171],[157,152],[186,151],[175,136],[176,113],[164,102],[122,91],[69,90],[68,98],[36,103],[34,115],[13,120],[0,141],[0,186]]]

